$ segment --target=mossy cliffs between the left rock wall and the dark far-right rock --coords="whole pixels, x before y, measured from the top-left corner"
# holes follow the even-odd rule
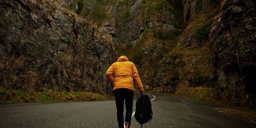
[[[217,2],[202,2],[204,6],[198,7],[195,0],[80,1],[84,4],[80,16],[111,37],[118,55],[125,54],[137,64],[146,89],[175,93],[177,86],[215,84],[210,42],[205,35],[198,41],[200,35],[194,33],[204,24],[211,25]],[[93,11],[99,7],[106,15],[101,20]],[[199,17],[204,21],[195,21]]]

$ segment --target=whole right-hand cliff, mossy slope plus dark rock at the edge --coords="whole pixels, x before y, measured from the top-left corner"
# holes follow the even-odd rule
[[[183,2],[186,29],[160,63],[154,90],[217,86],[224,102],[255,108],[255,2]]]

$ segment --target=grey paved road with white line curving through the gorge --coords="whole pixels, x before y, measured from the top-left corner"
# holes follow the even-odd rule
[[[134,94],[134,110],[137,96]],[[212,106],[177,96],[154,94],[153,119],[143,128],[254,128]],[[153,97],[151,97],[153,99]],[[0,105],[0,128],[117,128],[113,100]],[[140,128],[132,117],[131,128]]]

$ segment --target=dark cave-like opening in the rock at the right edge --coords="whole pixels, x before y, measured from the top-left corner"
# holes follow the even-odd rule
[[[247,65],[242,67],[242,74],[245,81],[245,89],[256,94],[256,65]]]

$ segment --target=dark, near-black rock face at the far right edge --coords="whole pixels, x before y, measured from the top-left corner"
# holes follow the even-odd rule
[[[256,2],[230,0],[212,26],[212,62],[221,98],[256,105]]]

